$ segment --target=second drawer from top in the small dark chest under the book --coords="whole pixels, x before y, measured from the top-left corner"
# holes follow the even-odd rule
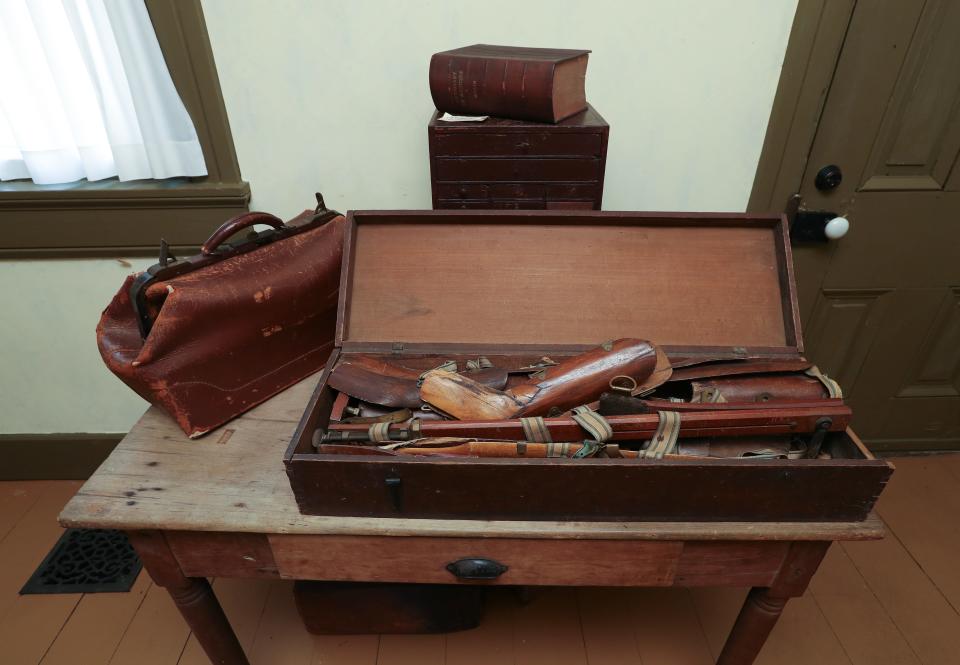
[[[598,180],[600,160],[580,159],[471,159],[434,160],[437,181]]]

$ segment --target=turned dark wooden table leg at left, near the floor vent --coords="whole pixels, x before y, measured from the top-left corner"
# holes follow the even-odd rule
[[[220,602],[204,577],[187,577],[167,545],[162,531],[128,531],[153,581],[164,587],[207,658],[215,665],[249,665]]]

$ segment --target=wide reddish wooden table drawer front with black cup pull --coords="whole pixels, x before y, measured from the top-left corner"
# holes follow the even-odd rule
[[[678,541],[396,538],[270,535],[288,579],[454,583],[447,565],[489,559],[506,570],[485,584],[669,586],[679,565]]]

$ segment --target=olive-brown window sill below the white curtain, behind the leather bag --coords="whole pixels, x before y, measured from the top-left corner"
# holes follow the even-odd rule
[[[188,253],[249,203],[245,182],[0,183],[0,258],[153,256],[160,238]]]

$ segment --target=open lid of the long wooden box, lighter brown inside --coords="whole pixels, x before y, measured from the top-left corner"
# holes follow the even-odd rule
[[[351,211],[344,350],[803,351],[785,218],[725,213]]]

